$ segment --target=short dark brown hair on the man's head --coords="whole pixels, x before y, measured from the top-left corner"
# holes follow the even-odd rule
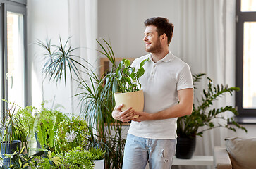
[[[173,37],[173,30],[174,30],[174,25],[173,23],[169,23],[169,20],[167,18],[162,18],[162,17],[153,17],[153,18],[148,18],[144,22],[145,26],[155,26],[157,27],[157,33],[158,36],[163,35],[164,33],[167,36],[168,39],[168,44],[170,44],[171,39]]]

